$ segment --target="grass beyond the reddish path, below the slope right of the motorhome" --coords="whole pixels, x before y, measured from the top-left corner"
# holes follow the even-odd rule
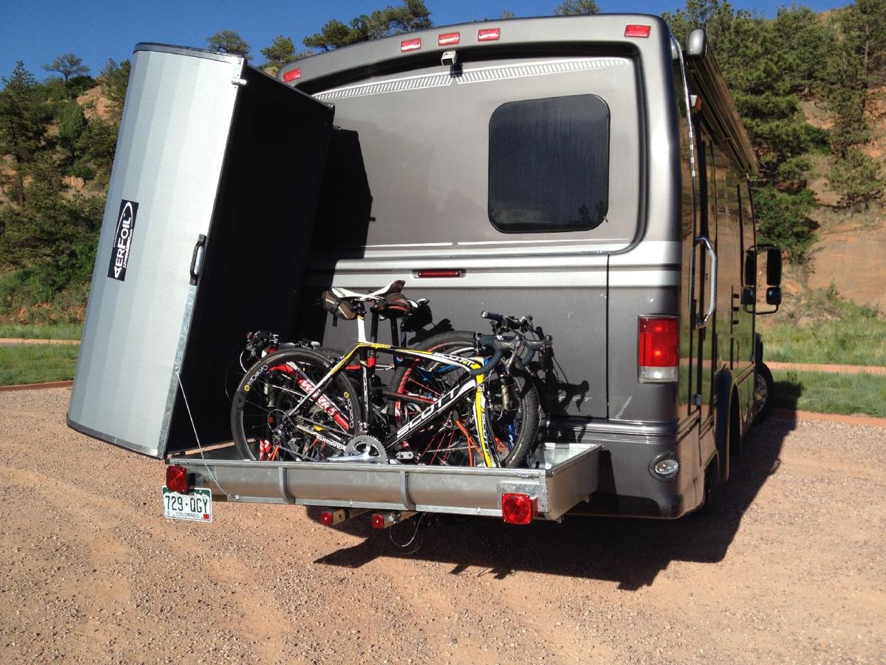
[[[886,366],[886,321],[874,309],[840,300],[833,287],[812,293],[787,320],[777,317],[758,328],[765,360]]]

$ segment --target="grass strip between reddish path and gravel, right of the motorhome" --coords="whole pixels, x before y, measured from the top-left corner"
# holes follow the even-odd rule
[[[773,407],[886,418],[886,376],[773,372]]]

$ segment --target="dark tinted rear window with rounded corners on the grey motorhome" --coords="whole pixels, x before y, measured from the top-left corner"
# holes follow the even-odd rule
[[[509,102],[489,121],[489,219],[506,233],[588,231],[609,207],[609,125],[596,95]]]

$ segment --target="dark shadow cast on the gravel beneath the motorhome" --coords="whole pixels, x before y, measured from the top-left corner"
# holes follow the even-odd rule
[[[377,557],[403,557],[452,566],[453,575],[503,579],[512,572],[528,571],[610,580],[619,589],[637,590],[653,583],[672,561],[723,559],[742,515],[778,470],[782,442],[795,426],[796,419],[773,415],[751,428],[745,452],[733,458],[729,481],[715,494],[710,512],[680,520],[567,516],[562,524],[538,521],[528,527],[482,518],[461,525],[440,520],[430,528],[423,522],[415,542],[403,549],[392,540],[408,542],[416,533],[416,520],[374,531],[369,520],[360,516],[336,528],[366,539],[317,563],[355,568]]]

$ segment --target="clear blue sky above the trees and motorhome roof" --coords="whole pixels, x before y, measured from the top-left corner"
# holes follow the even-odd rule
[[[561,0],[425,0],[435,25],[475,19],[498,18],[509,10],[518,17],[553,12]],[[276,35],[296,43],[320,30],[327,20],[349,21],[399,0],[339,0],[323,2],[268,2],[268,0],[184,0],[135,2],[134,0],[0,0],[0,76],[12,73],[16,60],[38,79],[47,74],[41,68],[62,53],[80,56],[97,74],[108,58],[117,61],[132,55],[138,42],[206,46],[206,37],[218,30],[237,30],[248,42],[256,64],[264,59],[260,50]],[[683,6],[682,0],[627,2],[597,0],[603,12],[643,12],[658,14]],[[734,0],[735,8],[757,11],[772,17],[778,4],[762,0]],[[789,3],[781,3],[789,4]],[[802,2],[816,12],[824,12],[845,2],[808,0]]]

